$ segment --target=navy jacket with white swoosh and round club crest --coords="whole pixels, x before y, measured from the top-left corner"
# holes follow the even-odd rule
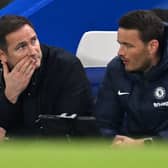
[[[168,39],[168,38],[167,38]],[[119,57],[107,67],[96,104],[105,136],[168,138],[168,47],[149,72],[129,73]]]

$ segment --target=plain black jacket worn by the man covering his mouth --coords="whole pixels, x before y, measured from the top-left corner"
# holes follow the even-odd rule
[[[78,58],[63,49],[44,45],[41,48],[41,67],[35,71],[16,104],[11,104],[4,95],[0,71],[1,127],[33,129],[39,114],[90,114],[90,84]]]

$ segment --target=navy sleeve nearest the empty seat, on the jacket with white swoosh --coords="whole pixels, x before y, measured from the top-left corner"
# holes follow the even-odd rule
[[[108,66],[96,102],[98,127],[105,137],[114,137],[119,133],[124,115],[114,88],[115,77],[110,72]]]

